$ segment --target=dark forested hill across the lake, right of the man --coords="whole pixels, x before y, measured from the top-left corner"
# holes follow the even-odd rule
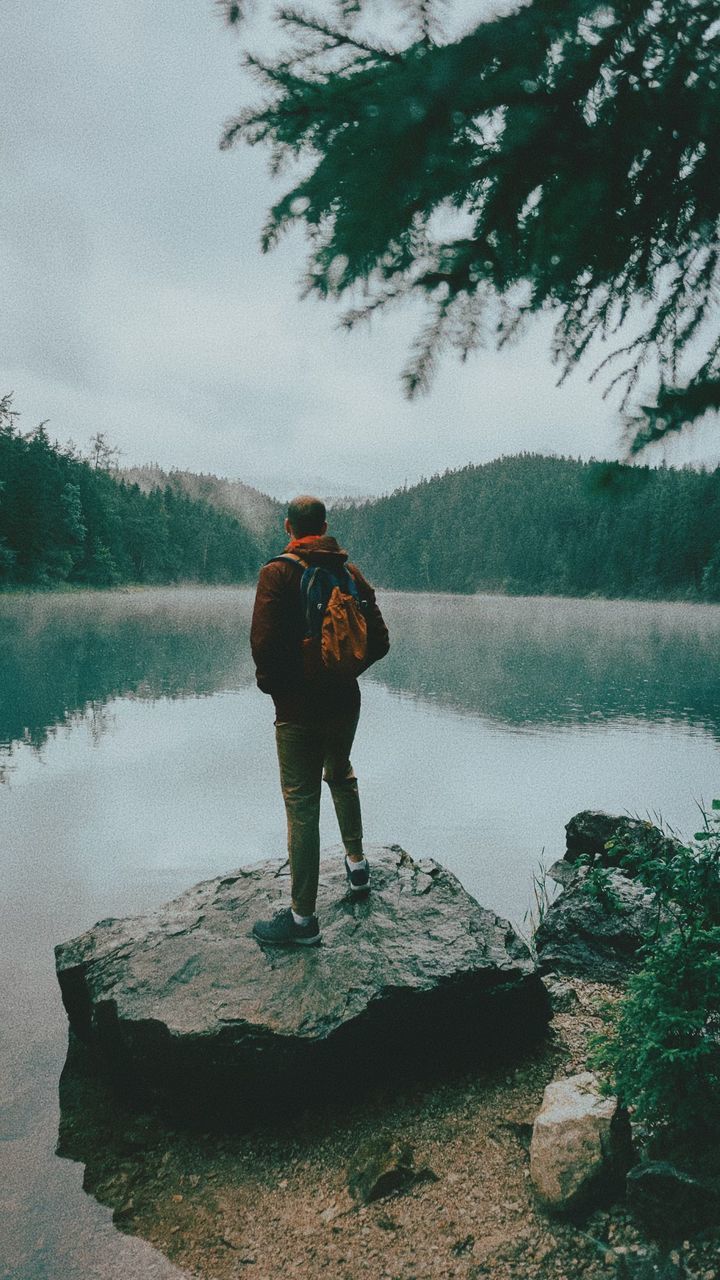
[[[331,520],[386,588],[720,600],[720,467],[525,453],[338,507]]]

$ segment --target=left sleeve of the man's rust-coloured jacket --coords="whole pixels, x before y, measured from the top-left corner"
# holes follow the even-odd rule
[[[277,563],[264,564],[258,579],[250,648],[255,678],[264,694],[282,694],[301,681],[301,657],[288,636],[288,580]]]

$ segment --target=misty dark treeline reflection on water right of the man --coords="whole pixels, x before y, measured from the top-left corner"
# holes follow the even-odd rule
[[[684,721],[720,736],[720,608],[501,595],[382,598],[388,687],[511,726]]]

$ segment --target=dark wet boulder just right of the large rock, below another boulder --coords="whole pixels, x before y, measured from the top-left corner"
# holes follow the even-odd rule
[[[623,982],[656,928],[657,904],[651,890],[609,869],[598,892],[588,879],[588,868],[582,867],[548,906],[536,932],[541,972]]]

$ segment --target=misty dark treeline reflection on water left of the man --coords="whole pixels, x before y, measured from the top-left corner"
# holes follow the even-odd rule
[[[0,750],[42,746],[111,698],[249,685],[251,602],[222,588],[0,598]]]

